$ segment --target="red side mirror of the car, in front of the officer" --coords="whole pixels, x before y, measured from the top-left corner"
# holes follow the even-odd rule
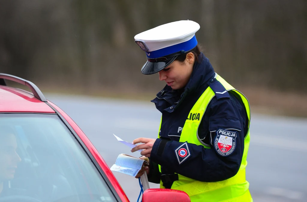
[[[175,189],[147,189],[142,202],[191,202],[187,193]]]

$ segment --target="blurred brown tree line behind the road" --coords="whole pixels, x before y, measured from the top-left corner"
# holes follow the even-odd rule
[[[178,20],[234,85],[307,92],[305,0],[0,0],[0,71],[38,83],[160,90],[134,35]]]

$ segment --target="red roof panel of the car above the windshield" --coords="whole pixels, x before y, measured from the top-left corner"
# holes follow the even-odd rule
[[[4,85],[0,85],[1,112],[55,113],[49,105],[38,100],[33,94]]]

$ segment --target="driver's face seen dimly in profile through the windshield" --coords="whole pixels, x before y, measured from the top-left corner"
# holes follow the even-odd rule
[[[0,180],[14,178],[17,163],[21,161],[16,149],[17,141],[14,134],[0,137]]]

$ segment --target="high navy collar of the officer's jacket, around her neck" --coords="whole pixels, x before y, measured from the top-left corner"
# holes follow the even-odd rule
[[[209,62],[209,59],[204,56],[203,53],[200,53],[198,56],[198,61],[195,62],[193,66],[193,71],[188,81],[187,85],[183,89],[173,90],[170,86],[165,85],[165,87],[157,93],[157,97],[152,100],[156,104],[156,107],[159,111],[163,111],[161,109],[163,105],[160,105],[158,102],[161,100],[165,100],[170,105],[176,105],[177,107],[187,95],[191,93],[197,92],[198,90],[204,87],[205,83],[214,77],[215,72],[212,68],[212,65]],[[173,111],[173,110],[172,110]]]

